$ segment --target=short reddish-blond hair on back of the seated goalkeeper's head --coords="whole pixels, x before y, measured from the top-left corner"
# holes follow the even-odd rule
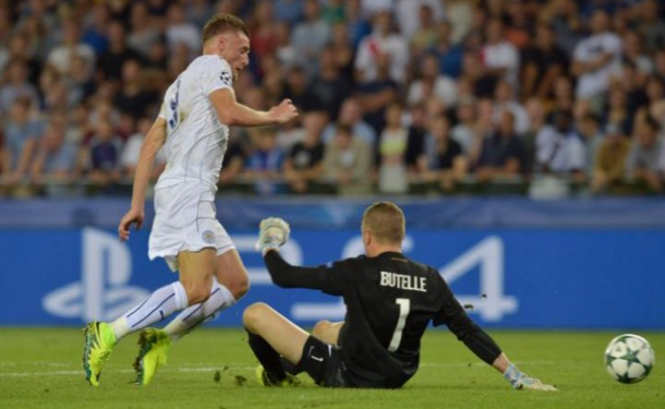
[[[399,244],[407,231],[404,213],[392,202],[375,202],[363,214],[362,230],[370,231],[380,244]]]

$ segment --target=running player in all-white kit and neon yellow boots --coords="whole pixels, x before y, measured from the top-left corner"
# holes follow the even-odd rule
[[[159,288],[112,323],[86,326],[83,366],[90,385],[99,385],[101,369],[116,344],[141,329],[134,368],[136,382],[148,384],[166,362],[173,341],[213,320],[249,290],[245,267],[215,212],[229,125],[279,124],[298,116],[288,99],[268,111],[235,100],[232,83],[247,65],[249,52],[244,23],[230,14],[216,14],[203,29],[203,56],[167,89],[159,117],[141,148],[132,205],[118,233],[124,241],[132,225],[141,228],[153,163],[164,146],[167,167],[155,185],[148,255],[150,260],[164,257],[180,273],[180,280]],[[182,312],[164,329],[148,328],[178,311]]]

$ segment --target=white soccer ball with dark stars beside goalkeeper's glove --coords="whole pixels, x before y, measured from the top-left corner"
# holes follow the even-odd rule
[[[605,350],[605,368],[614,380],[634,384],[649,375],[655,354],[646,339],[624,334],[614,338]]]

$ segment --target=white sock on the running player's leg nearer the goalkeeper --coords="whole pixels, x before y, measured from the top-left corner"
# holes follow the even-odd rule
[[[214,278],[210,298],[200,304],[191,305],[178,314],[164,330],[171,336],[171,339],[177,341],[195,327],[215,320],[220,312],[234,303],[235,298],[233,298],[231,291]]]

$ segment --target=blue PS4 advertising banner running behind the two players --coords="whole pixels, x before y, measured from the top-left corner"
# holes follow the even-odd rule
[[[241,325],[265,301],[295,322],[342,320],[338,298],[275,287],[253,250],[255,231],[231,231],[252,289],[211,325]],[[177,276],[147,258],[148,232],[120,243],[113,230],[0,230],[0,325],[82,325],[112,320]],[[509,328],[665,329],[665,231],[409,231],[404,251],[438,268],[480,324]],[[302,230],[282,253],[318,265],[362,253],[358,230]]]

